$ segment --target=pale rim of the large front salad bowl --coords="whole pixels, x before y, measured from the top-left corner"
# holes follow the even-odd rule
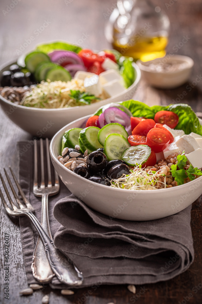
[[[67,128],[67,126],[69,125],[69,124],[72,124],[73,122],[78,122],[79,120],[81,120],[81,119],[87,119],[87,118],[89,118],[91,115],[87,115],[87,116],[84,116],[84,117],[81,117],[81,118],[79,118],[79,119],[76,119],[76,120],[74,120],[74,121],[72,121],[71,123],[68,123],[66,126],[64,126],[63,128],[61,128],[54,136],[53,136],[53,138],[51,139],[51,142],[50,142],[50,154],[51,154],[51,156],[55,159],[55,161],[57,161],[57,163],[59,164],[59,166],[61,167],[61,168],[64,168],[64,165],[62,165],[61,164],[61,162],[60,161],[58,161],[58,158],[55,156],[55,154],[54,154],[54,152],[53,152],[53,142],[54,142],[54,140],[55,140],[55,138],[59,135],[59,133],[61,133],[61,131],[63,131],[63,130],[65,130],[66,128]],[[68,130],[68,129],[67,129]],[[65,131],[64,131],[64,133],[65,133]],[[71,170],[69,170],[68,168],[65,168],[66,170],[68,170],[68,172],[70,173],[70,174],[76,174],[75,172],[73,172],[73,171],[71,171]],[[80,175],[78,175],[78,174],[76,174],[77,175],[77,177],[80,179],[80,181],[82,182],[83,181],[83,177],[82,176],[80,176]],[[86,179],[86,178],[85,178]],[[196,182],[197,180],[202,180],[202,176],[200,176],[200,177],[198,177],[198,178],[196,178],[196,179],[194,179],[193,181],[189,181],[189,184],[190,183],[192,183],[193,184],[193,182]],[[88,181],[88,182],[90,182],[92,185],[94,185],[94,181],[90,181],[89,179],[86,179],[86,181]],[[98,184],[98,183],[97,183]],[[156,191],[158,191],[158,192],[160,192],[160,191],[164,191],[164,193],[168,193],[169,191],[177,191],[176,189],[179,189],[179,187],[180,187],[180,189],[182,189],[182,187],[187,187],[187,184],[188,183],[186,183],[186,184],[183,184],[183,185],[179,185],[179,186],[176,186],[176,187],[172,187],[172,188],[162,188],[162,189],[153,189],[153,190],[131,190],[131,189],[119,189],[119,188],[115,188],[115,187],[110,187],[111,189],[113,189],[113,191],[121,191],[122,193],[123,193],[123,191],[132,191],[132,192],[137,192],[137,193],[145,193],[145,191],[146,191],[146,193],[154,193],[154,191],[156,192]],[[109,186],[106,186],[106,185],[102,185],[102,184],[98,184],[99,186],[101,186],[101,187],[104,187],[103,188],[103,190],[104,189],[106,189],[106,187],[109,187]],[[173,190],[172,190],[173,189]],[[184,193],[186,193],[187,191],[186,191],[186,189],[185,189],[185,192]]]

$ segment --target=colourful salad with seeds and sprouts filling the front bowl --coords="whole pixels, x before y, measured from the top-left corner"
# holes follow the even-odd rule
[[[185,104],[111,103],[65,132],[58,160],[115,188],[172,188],[202,175],[202,126]]]

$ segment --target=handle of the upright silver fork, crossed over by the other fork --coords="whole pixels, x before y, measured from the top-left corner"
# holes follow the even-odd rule
[[[48,220],[48,194],[42,195],[41,226],[44,228],[45,232],[48,234],[48,236],[52,240],[51,230],[50,230],[49,220]],[[33,276],[40,283],[45,284],[45,283],[50,282],[54,276],[54,273],[48,262],[48,258],[45,253],[44,245],[43,245],[40,237],[38,237],[38,239],[37,239],[32,259],[33,259],[33,262],[31,264],[31,270],[32,270]]]

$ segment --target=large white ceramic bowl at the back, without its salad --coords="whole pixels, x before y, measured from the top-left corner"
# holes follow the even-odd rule
[[[8,70],[12,62],[0,68],[2,71]],[[119,102],[131,99],[137,89],[140,81],[141,72],[139,67],[133,63],[136,73],[134,83],[121,94],[114,97],[101,100],[91,105],[77,106],[65,109],[38,109],[25,107],[23,105],[15,105],[0,95],[0,105],[5,114],[17,126],[37,137],[51,138],[58,130],[71,121],[93,114],[99,107],[106,105],[109,102]]]

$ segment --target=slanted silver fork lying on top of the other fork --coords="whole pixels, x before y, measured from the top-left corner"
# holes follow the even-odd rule
[[[17,208],[12,201],[12,198],[8,192],[8,188],[6,187],[5,181],[2,177],[2,174],[0,173],[0,178],[2,181],[3,188],[5,190],[5,193],[7,195],[7,198],[12,206],[12,209],[9,208],[7,205],[4,195],[0,188],[0,197],[2,199],[2,203],[5,207],[6,212],[11,216],[17,216],[17,215],[25,215],[27,216],[32,224],[35,226],[41,240],[43,243],[43,246],[45,248],[45,253],[48,258],[48,262],[51,266],[52,271],[57,276],[58,280],[62,283],[68,284],[68,285],[81,285],[83,281],[82,272],[80,272],[76,266],[69,262],[67,257],[65,257],[64,254],[62,254],[55,246],[53,245],[53,241],[50,239],[48,234],[45,232],[41,224],[39,223],[38,219],[35,217],[35,215],[32,213],[34,212],[34,208],[31,206],[28,199],[26,199],[24,192],[22,191],[22,188],[20,187],[17,178],[15,177],[15,174],[13,173],[12,169],[10,168],[11,174],[13,176],[13,179],[15,181],[15,184],[17,185],[17,188],[19,190],[19,193],[22,197],[22,200],[25,204],[25,206],[20,201],[15,188],[12,185],[12,181],[8,176],[7,171],[4,169],[6,178],[8,180],[8,184],[10,185],[10,188],[12,190],[12,193],[15,197],[15,200],[17,202],[17,205],[19,208]]]

